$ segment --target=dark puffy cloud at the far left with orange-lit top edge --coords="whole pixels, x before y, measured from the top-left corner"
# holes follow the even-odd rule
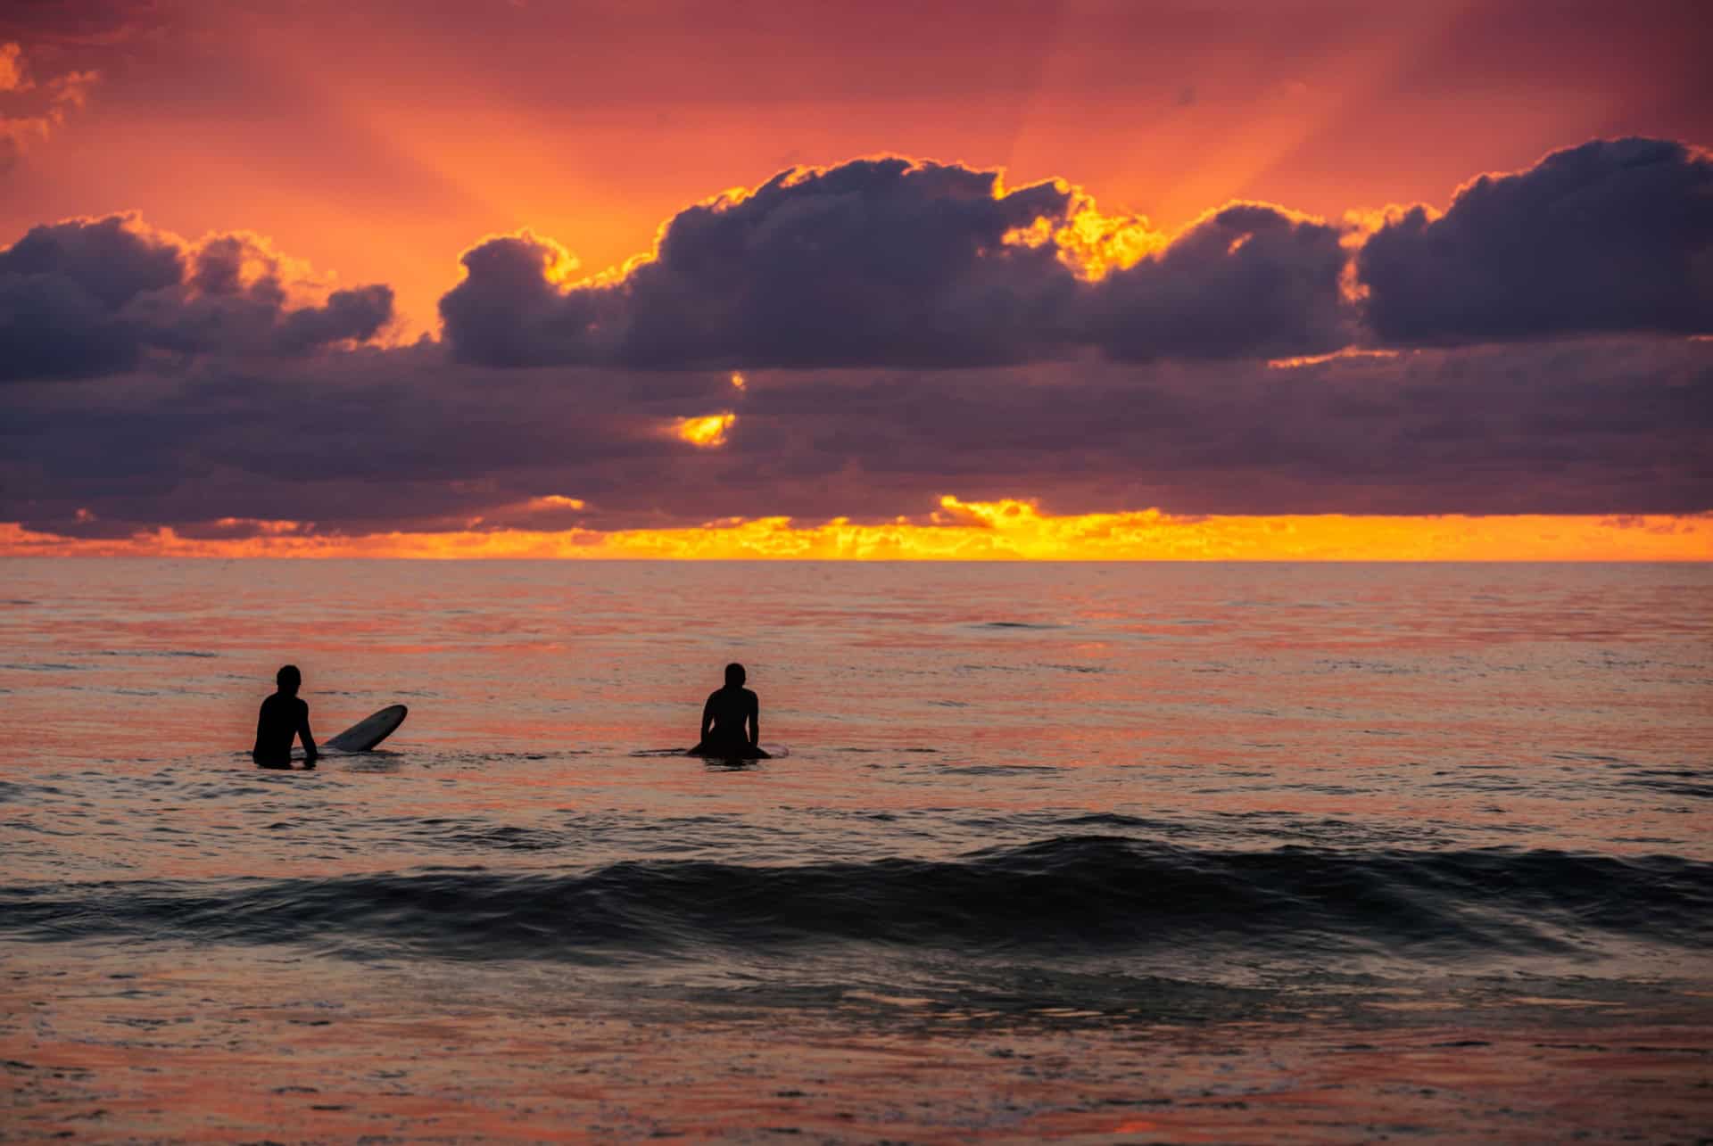
[[[368,341],[391,317],[391,288],[327,291],[250,233],[187,243],[115,214],[0,250],[0,382],[115,373],[151,353],[303,355]]]

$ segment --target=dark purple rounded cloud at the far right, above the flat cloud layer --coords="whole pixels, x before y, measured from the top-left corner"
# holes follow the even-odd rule
[[[1713,331],[1713,158],[1658,139],[1557,151],[1444,214],[1396,214],[1357,269],[1388,343]]]

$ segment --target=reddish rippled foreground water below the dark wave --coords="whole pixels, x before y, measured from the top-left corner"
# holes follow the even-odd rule
[[[9,1129],[212,1143],[1319,1143],[1408,1125],[1473,1143],[1494,1127],[1519,1141],[1670,1137],[1713,1119],[1703,1028],[1646,1006],[1562,1014],[1518,999],[1511,1012],[1405,1024],[1376,1024],[1360,997],[1307,1019],[1192,1024],[879,1000],[689,1018],[671,999],[613,1007],[565,987],[529,968],[361,966],[272,947],[188,966],[26,949],[0,982]],[[29,1004],[50,992],[51,1021],[39,1021]]]

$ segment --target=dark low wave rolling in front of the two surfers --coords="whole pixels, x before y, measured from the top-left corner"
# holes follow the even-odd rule
[[[519,843],[519,841],[514,841]],[[310,942],[351,952],[637,959],[863,942],[973,954],[1597,956],[1713,942],[1713,863],[1566,851],[1209,851],[1065,836],[958,860],[0,889],[0,934]]]

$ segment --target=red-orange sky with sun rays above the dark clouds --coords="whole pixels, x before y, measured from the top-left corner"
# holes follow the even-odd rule
[[[483,235],[598,271],[718,188],[877,152],[1064,176],[1165,230],[1228,199],[1442,206],[1590,135],[1713,139],[1696,5],[1609,9],[168,2],[104,36],[24,10],[0,39],[36,103],[99,81],[5,175],[0,243],[120,209],[257,230],[391,283],[420,332]]]

